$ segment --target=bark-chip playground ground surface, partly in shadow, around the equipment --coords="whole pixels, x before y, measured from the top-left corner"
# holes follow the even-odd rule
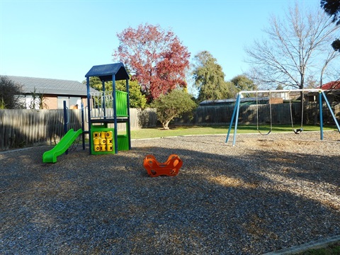
[[[51,147],[1,152],[0,254],[264,254],[340,234],[337,131],[131,143],[55,164]],[[183,166],[150,177],[147,154]]]

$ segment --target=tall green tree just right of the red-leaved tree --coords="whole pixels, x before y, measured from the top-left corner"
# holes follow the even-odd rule
[[[216,100],[229,97],[230,84],[225,73],[210,52],[199,52],[194,57],[193,80],[198,88],[198,101]]]

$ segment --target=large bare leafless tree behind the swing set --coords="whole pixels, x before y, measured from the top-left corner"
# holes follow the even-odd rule
[[[331,47],[339,26],[318,8],[302,10],[298,4],[288,8],[284,18],[272,16],[264,30],[267,37],[246,48],[251,79],[267,86],[303,89],[307,77],[320,77],[339,57]]]

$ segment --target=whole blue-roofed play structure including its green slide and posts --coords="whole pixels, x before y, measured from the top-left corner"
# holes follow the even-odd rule
[[[65,135],[60,142],[42,155],[42,162],[55,163],[57,157],[67,153],[79,135],[82,135],[85,149],[85,134],[89,134],[90,154],[117,154],[118,150],[131,149],[129,74],[124,64],[102,64],[92,67],[85,75],[87,87],[87,107],[89,131],[84,131],[84,106],[81,103],[81,129],[67,131],[68,114],[64,101]],[[98,77],[102,82],[102,91],[90,88],[90,77]],[[125,80],[126,91],[115,89],[115,81]],[[105,91],[105,82],[112,81],[112,91]],[[113,123],[113,128],[109,125]],[[125,123],[125,134],[118,135],[118,123]]]

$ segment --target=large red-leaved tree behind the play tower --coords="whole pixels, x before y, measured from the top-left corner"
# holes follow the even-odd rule
[[[171,30],[145,24],[118,33],[113,59],[123,62],[149,101],[177,86],[186,87],[190,53]]]

